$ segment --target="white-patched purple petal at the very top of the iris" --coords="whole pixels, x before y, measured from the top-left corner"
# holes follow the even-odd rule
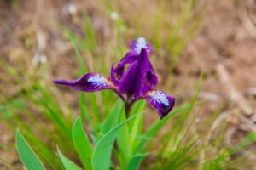
[[[137,54],[140,54],[143,48],[146,49],[148,55],[152,51],[152,47],[147,43],[144,37],[137,38],[137,41],[131,41],[131,50]]]

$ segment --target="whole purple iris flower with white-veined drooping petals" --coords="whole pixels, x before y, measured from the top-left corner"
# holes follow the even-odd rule
[[[138,99],[146,99],[157,110],[160,118],[163,118],[172,110],[175,98],[154,89],[158,79],[148,59],[151,51],[152,47],[145,38],[139,37],[137,41],[131,41],[130,52],[125,54],[118,65],[115,68],[111,66],[110,77],[91,72],[70,82],[54,82],[84,92],[111,89],[125,101],[126,112],[129,112],[131,105]],[[129,65],[127,69],[125,65]]]

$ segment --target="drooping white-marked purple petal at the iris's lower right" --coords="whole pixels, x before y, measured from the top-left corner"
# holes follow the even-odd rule
[[[160,118],[165,117],[175,104],[175,98],[160,90],[151,90],[144,95],[144,99],[157,110]]]

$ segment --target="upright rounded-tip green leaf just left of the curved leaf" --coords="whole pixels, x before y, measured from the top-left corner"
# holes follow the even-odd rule
[[[90,157],[93,149],[86,133],[84,132],[83,123],[80,117],[78,117],[73,123],[72,136],[73,144],[77,150],[77,153],[79,154],[79,158],[82,161],[84,168],[86,170],[92,169]]]

